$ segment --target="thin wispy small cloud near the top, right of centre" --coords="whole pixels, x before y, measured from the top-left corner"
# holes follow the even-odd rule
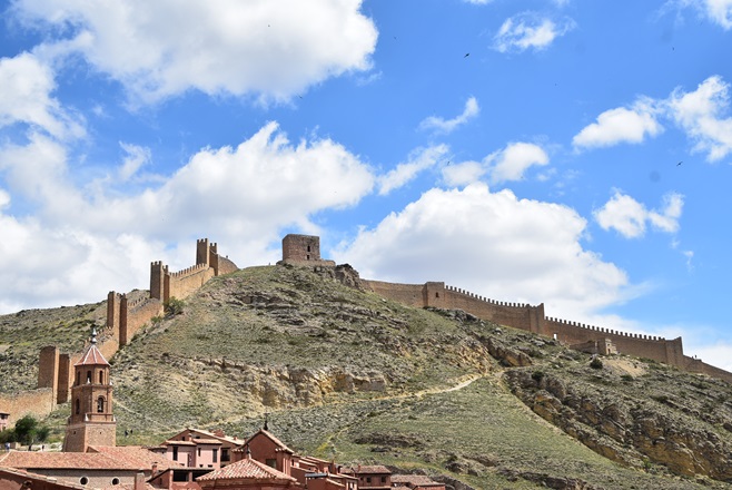
[[[536,12],[524,12],[503,22],[493,38],[493,47],[499,52],[542,50],[574,27],[575,22],[568,18],[557,23]]]

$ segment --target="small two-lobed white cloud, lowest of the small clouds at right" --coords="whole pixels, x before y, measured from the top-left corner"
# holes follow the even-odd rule
[[[597,224],[603,229],[615,229],[625,238],[637,238],[645,234],[646,223],[660,232],[675,233],[683,209],[684,198],[676,193],[663,197],[663,208],[649,210],[633,197],[615,190],[603,207],[594,212]]]

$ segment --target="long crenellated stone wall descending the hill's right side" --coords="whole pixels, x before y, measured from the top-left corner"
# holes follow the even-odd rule
[[[620,332],[580,324],[544,315],[544,304],[505,303],[488,300],[445,283],[395,284],[362,280],[364,287],[393,301],[415,307],[433,306],[445,310],[463,310],[479,318],[546,335],[570,344],[595,343],[606,351],[610,341],[619,353],[646,357],[677,366],[684,371],[703,373],[732,383],[732,373],[684,355],[681,337],[666,340],[659,336]]]

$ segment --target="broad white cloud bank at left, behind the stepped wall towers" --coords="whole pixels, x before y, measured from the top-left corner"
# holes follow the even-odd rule
[[[127,151],[119,171],[132,175],[149,150]],[[275,122],[236,147],[201,149],[161,185],[127,196],[77,188],[63,147],[41,135],[2,148],[0,170],[9,186],[0,190],[0,278],[13,284],[0,311],[145,286],[150,259],[186,267],[199,236],[226,244],[220,252],[239,265],[267,263],[283,228],[317,233],[314,214],[355,205],[374,186],[372,170],[343,146],[293,144]],[[32,216],[13,214],[16,195],[33,204]]]

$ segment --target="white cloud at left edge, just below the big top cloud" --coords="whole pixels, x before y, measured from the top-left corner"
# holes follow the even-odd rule
[[[0,127],[24,122],[57,138],[83,135],[80,121],[51,97],[53,72],[33,55],[0,58]]]

